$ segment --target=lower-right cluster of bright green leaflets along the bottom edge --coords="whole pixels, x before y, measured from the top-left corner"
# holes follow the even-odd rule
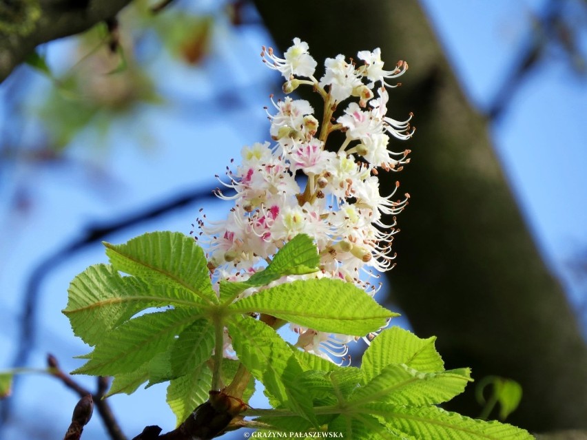
[[[434,339],[419,339],[400,328],[375,337],[357,375],[355,368],[312,371],[302,379],[316,414],[329,415],[327,430],[350,439],[532,439],[528,432],[498,422],[469,419],[437,406],[464,390],[469,370],[444,370]],[[418,365],[424,371],[409,365]],[[331,401],[336,403],[324,404]],[[276,430],[289,430],[300,418],[260,417]],[[303,426],[303,428],[299,428]],[[311,429],[298,424],[300,429]]]

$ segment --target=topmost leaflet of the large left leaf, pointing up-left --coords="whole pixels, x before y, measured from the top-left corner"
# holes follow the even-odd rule
[[[178,286],[209,303],[218,303],[204,251],[193,238],[178,232],[146,233],[125,244],[104,243],[119,271],[156,284]]]

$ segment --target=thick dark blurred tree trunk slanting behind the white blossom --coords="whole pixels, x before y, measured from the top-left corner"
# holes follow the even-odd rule
[[[519,213],[487,123],[466,101],[418,2],[255,3],[281,49],[299,36],[319,65],[377,47],[389,69],[409,62],[404,85],[390,92],[389,116],[415,113],[415,138],[392,145],[412,149],[412,163],[382,189],[391,192],[399,179],[411,194],[394,242],[391,301],[420,337],[438,336],[448,368],[471,366],[477,379],[502,375],[522,384],[511,423],[587,427],[586,344]],[[468,388],[449,409],[477,416]]]

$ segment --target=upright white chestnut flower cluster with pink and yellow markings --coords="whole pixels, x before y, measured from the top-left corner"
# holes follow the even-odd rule
[[[321,255],[321,271],[311,276],[354,282],[373,294],[375,286],[364,280],[362,272],[393,266],[395,217],[392,224],[385,224],[383,216],[402,211],[409,197],[394,200],[395,190],[382,196],[378,179],[378,169],[397,171],[409,162],[409,150],[394,153],[387,147],[390,135],[412,136],[411,115],[405,121],[386,116],[387,88],[393,87],[388,82],[408,66],[400,61],[393,70],[384,70],[379,49],[362,51],[358,53],[362,63],[347,61],[343,55],[327,59],[325,74],[318,80],[317,63],[300,39],[294,39],[283,58],[271,48],[263,48],[261,56],[285,77],[285,93],[310,85],[322,96],[324,111],[320,122],[308,101],[271,98],[273,108],[267,114],[273,143],[244,147],[240,165],[228,169],[227,182],[220,180],[230,193],[218,190],[217,195],[234,200],[227,220],[198,219],[200,235],[208,244],[209,265],[219,277],[246,280],[283,244],[306,233]],[[349,98],[355,99],[343,106]],[[333,132],[342,132],[343,140],[334,148],[329,140],[327,148]],[[299,335],[298,346],[320,355],[325,351],[342,356],[345,344],[353,339],[293,328]]]

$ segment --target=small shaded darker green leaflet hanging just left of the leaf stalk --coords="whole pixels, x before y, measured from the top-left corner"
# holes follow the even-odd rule
[[[207,319],[198,319],[179,334],[171,352],[174,375],[183,376],[207,361],[214,349],[214,326]]]

